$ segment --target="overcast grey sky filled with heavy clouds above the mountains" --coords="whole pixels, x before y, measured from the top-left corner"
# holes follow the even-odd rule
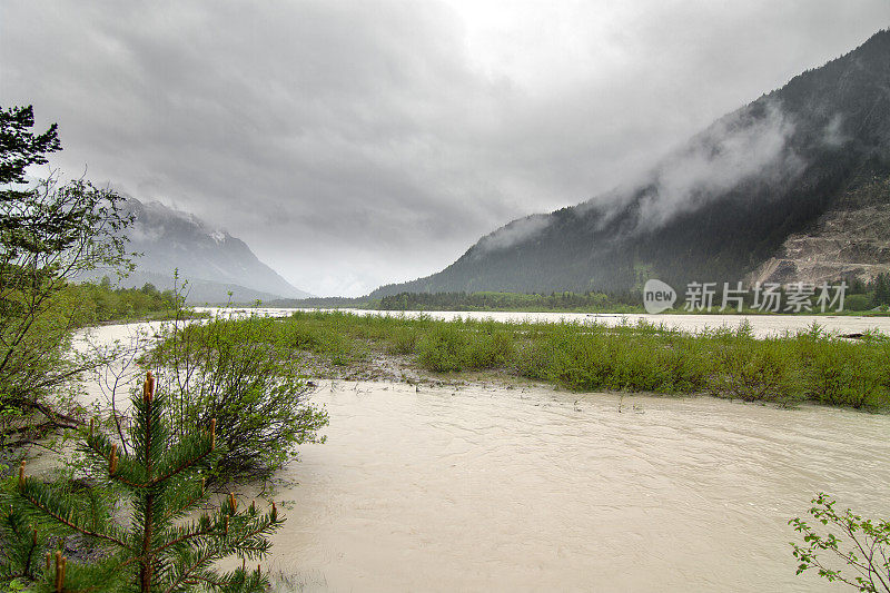
[[[66,172],[366,294],[626,184],[890,26],[888,0],[2,0],[0,105]]]

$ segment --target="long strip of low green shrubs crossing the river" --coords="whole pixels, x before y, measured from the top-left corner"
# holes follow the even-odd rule
[[[215,323],[229,324],[231,335],[261,324],[263,339],[279,352],[308,350],[334,365],[386,353],[431,372],[488,370],[574,391],[890,408],[890,339],[874,334],[852,342],[815,325],[759,339],[745,324],[693,334],[646,323],[443,322],[324,312]]]

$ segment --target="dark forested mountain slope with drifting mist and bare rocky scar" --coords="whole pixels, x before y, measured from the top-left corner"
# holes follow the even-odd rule
[[[890,268],[888,179],[882,30],[719,119],[643,179],[514,220],[441,273],[370,296],[868,277]]]

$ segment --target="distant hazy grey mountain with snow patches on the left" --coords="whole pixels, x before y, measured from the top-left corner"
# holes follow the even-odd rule
[[[136,271],[121,286],[151,283],[170,288],[178,268],[180,284],[189,281],[191,303],[225,303],[229,291],[238,303],[310,296],[260,261],[243,240],[209,228],[194,215],[135,198],[127,198],[126,209],[136,219],[127,229],[128,250],[142,255],[135,258]]]

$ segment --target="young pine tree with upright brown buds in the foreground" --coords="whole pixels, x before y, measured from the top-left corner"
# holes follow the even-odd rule
[[[266,535],[284,518],[274,503],[260,513],[229,494],[215,512],[187,520],[206,501],[202,476],[222,454],[216,446],[216,422],[207,432],[175,438],[165,418],[167,399],[154,392],[149,373],[142,395],[132,398],[129,446],[111,443],[92,422],[83,444],[98,478],[123,493],[129,524],[116,523],[93,488],[42,483],[26,475],[22,462],[0,508],[0,576],[17,579],[29,590],[57,593],[268,589],[259,566],[248,572],[245,565],[266,554]],[[77,534],[99,547],[102,557],[78,563],[60,551],[46,552],[48,533]],[[240,569],[214,570],[217,560],[233,555],[243,559]]]

